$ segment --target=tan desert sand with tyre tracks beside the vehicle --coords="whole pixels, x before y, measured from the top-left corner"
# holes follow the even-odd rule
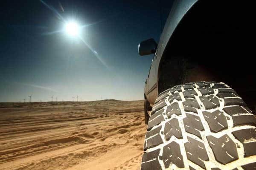
[[[143,101],[0,103],[1,170],[139,170]]]

